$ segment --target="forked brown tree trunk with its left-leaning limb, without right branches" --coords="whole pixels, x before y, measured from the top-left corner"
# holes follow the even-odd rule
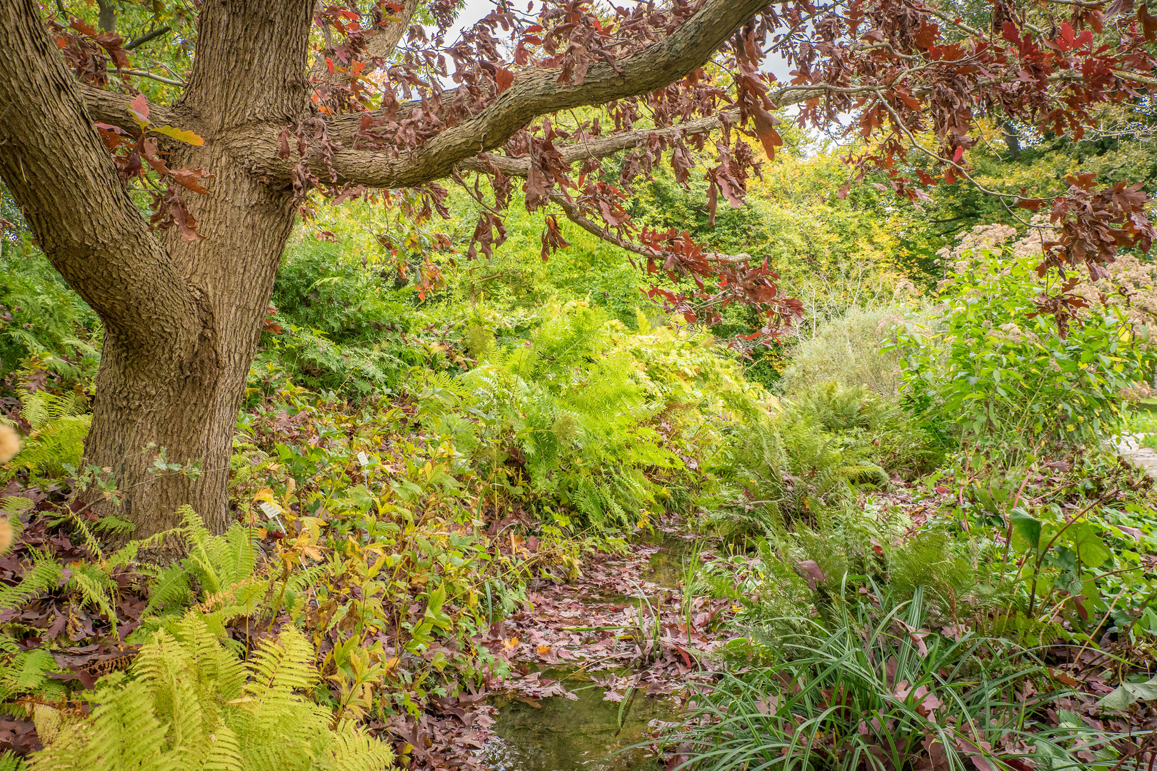
[[[127,517],[133,538],[172,527],[186,503],[209,529],[228,525],[237,410],[294,221],[292,187],[239,156],[255,132],[310,114],[311,10],[308,0],[243,13],[205,3],[189,88],[165,114],[205,140],[169,147],[169,166],[215,175],[207,195],[184,193],[204,236],[189,242],[176,228],[148,231],[38,8],[0,0],[0,177],[52,264],[105,324],[84,464],[111,472],[121,504],[93,492],[94,507]],[[202,473],[157,469],[161,448]]]

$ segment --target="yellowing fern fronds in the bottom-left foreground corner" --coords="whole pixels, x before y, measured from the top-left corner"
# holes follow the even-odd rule
[[[381,771],[386,744],[305,694],[314,647],[296,629],[263,640],[249,661],[196,610],[156,632],[127,674],[97,684],[91,716],[64,724],[31,771]]]

